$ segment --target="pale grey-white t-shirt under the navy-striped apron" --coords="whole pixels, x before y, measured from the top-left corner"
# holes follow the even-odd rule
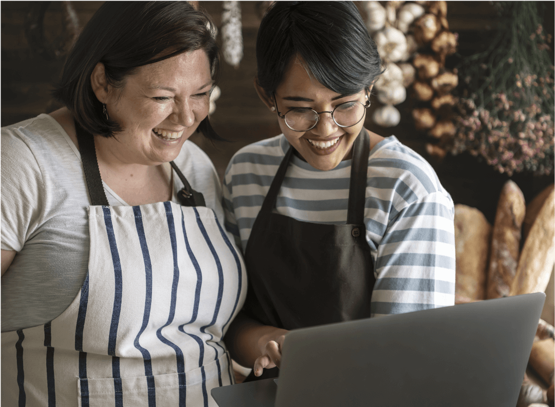
[[[51,116],[0,131],[0,248],[18,253],[2,277],[2,332],[44,324],[73,301],[87,274],[90,204],[81,156]],[[209,157],[185,141],[174,160],[220,222],[221,187]],[[183,184],[173,174],[173,201]],[[104,182],[110,206],[127,205]]]

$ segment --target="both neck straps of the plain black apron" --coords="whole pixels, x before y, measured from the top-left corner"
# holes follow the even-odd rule
[[[285,153],[278,172],[270,185],[260,214],[268,216],[275,206],[281,184],[285,179],[287,166],[293,155],[293,146]],[[362,128],[352,146],[351,180],[349,184],[349,205],[347,206],[347,224],[362,225],[364,223],[364,204],[366,197],[366,176],[368,172],[368,157],[370,154],[370,137],[365,128]]]

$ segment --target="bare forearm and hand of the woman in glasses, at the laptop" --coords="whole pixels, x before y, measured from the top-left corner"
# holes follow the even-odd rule
[[[224,341],[231,358],[241,366],[252,366],[255,376],[264,369],[279,367],[281,347],[289,331],[260,324],[240,312],[231,322]]]

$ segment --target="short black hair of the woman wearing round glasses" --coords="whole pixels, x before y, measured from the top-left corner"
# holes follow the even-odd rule
[[[258,84],[271,97],[298,55],[314,78],[342,95],[369,88],[380,55],[351,1],[278,1],[256,37]]]

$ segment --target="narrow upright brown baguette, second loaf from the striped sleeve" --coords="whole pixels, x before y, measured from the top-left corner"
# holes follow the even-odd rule
[[[487,273],[487,298],[508,296],[517,271],[522,221],[526,212],[524,195],[511,180],[501,189],[491,240]]]

